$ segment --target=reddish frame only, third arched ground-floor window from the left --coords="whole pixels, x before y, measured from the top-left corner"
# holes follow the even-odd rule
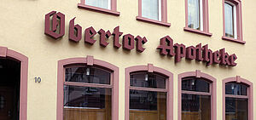
[[[178,74],[177,76],[177,120],[182,120],[182,80],[184,77],[197,77],[197,78],[204,78],[207,81],[211,82],[210,84],[210,91],[212,91],[210,94],[205,92],[185,92],[186,94],[201,94],[201,95],[211,95],[211,120],[217,119],[217,81],[216,78],[203,73],[199,70],[196,71],[188,71],[181,74]]]

